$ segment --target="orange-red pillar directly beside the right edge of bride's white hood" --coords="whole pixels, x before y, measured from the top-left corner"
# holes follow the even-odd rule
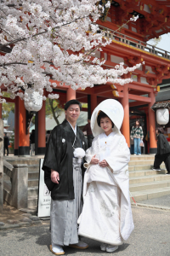
[[[128,148],[130,148],[128,84],[125,84],[124,88],[123,88],[122,107],[124,108],[124,119],[122,122],[122,134],[127,141]]]

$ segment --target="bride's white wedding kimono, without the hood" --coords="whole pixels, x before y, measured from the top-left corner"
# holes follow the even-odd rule
[[[109,167],[89,165],[92,157],[106,160]],[[129,197],[128,161],[130,152],[120,131],[94,137],[86,151],[80,236],[111,245],[121,245],[133,231]]]

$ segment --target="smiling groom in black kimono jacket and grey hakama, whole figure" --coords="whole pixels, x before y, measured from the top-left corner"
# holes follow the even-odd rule
[[[51,132],[42,166],[52,197],[50,250],[55,255],[65,253],[63,246],[88,248],[77,234],[77,218],[82,212],[83,159],[79,163],[73,155],[75,148],[87,149],[86,138],[77,127],[81,109],[77,100],[66,102],[65,120]]]

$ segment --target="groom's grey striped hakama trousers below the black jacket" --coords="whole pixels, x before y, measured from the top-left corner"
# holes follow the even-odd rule
[[[82,163],[73,158],[75,199],[51,201],[51,241],[60,246],[78,242],[77,219],[82,212]]]

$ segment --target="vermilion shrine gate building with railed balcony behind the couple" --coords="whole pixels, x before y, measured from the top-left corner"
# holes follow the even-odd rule
[[[123,79],[131,78],[130,84],[94,84],[94,88],[86,90],[72,90],[70,86],[58,86],[53,93],[59,94],[59,103],[64,107],[65,102],[77,99],[88,103],[90,118],[94,108],[99,102],[112,98],[122,103],[124,108],[124,120],[122,134],[126,138],[130,148],[130,129],[135,119],[141,119],[144,136],[149,132],[150,143],[145,153],[156,153],[156,117],[151,109],[156,102],[156,95],[163,79],[170,79],[170,52],[156,48],[146,42],[150,38],[158,38],[164,33],[170,32],[170,3],[169,1],[156,0],[116,0],[111,2],[111,8],[105,9],[105,14],[98,20],[99,28],[105,32],[105,37],[110,37],[112,43],[103,51],[96,51],[95,56],[104,58],[104,68],[115,67],[124,62],[124,67],[133,67],[144,61],[139,69],[133,73],[123,75]],[[105,0],[100,1],[105,6]],[[136,22],[130,21],[133,15],[139,15]],[[5,54],[7,49],[2,50]],[[52,83],[54,80],[50,80]],[[48,92],[44,91],[48,96]],[[24,101],[17,96],[14,100],[6,98],[7,102],[14,102],[14,154],[30,154],[29,131],[27,129],[29,113],[26,111]],[[2,105],[1,105],[2,106]],[[1,107],[2,108],[2,107]],[[1,113],[1,111],[0,111]],[[45,102],[42,109],[36,114],[36,154],[45,153]]]

